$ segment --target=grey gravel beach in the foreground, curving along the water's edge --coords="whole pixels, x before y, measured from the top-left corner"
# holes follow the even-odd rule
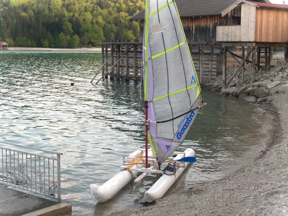
[[[288,93],[288,92],[287,92]],[[166,196],[141,209],[110,216],[141,215],[288,215],[288,94],[273,94],[255,103],[263,115],[272,114],[272,139],[253,162],[231,175]]]

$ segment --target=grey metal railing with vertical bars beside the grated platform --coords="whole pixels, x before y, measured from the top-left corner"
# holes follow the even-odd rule
[[[0,144],[0,183],[49,196],[61,202],[62,153],[3,141],[0,141]],[[14,149],[11,146],[14,146]]]

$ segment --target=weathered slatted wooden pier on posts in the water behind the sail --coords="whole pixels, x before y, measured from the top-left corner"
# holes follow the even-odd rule
[[[102,41],[102,67],[96,73],[101,72],[101,78],[97,77],[96,84],[103,78],[140,80],[142,79],[142,49],[143,43],[130,41]],[[216,55],[214,54],[214,43],[200,41],[198,43],[188,42],[194,67],[200,84],[211,82],[217,75]],[[108,55],[108,53],[110,53]],[[219,65],[218,65],[219,66]],[[100,76],[99,76],[100,77]]]

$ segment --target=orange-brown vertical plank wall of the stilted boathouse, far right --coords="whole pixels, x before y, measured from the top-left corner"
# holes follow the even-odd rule
[[[256,8],[255,41],[288,42],[288,10]]]

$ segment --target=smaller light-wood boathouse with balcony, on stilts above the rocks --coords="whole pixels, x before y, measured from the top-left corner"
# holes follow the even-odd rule
[[[216,30],[216,40],[224,49],[223,86],[225,87],[238,72],[242,74],[242,84],[244,73],[248,73],[251,83],[254,83],[256,68],[259,69],[261,63],[270,65],[271,48],[285,47],[287,51],[288,47],[288,5],[239,0],[224,10],[222,16],[235,8],[241,11],[240,24],[217,26]],[[241,49],[240,55],[231,52],[230,49],[236,48]],[[227,53],[238,62],[237,66],[240,66],[228,81]],[[245,64],[251,65],[250,70]]]

